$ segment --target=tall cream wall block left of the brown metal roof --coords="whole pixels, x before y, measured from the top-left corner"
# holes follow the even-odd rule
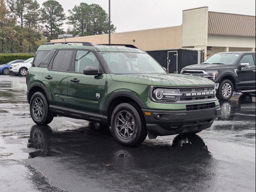
[[[207,46],[208,7],[182,12],[182,46]]]

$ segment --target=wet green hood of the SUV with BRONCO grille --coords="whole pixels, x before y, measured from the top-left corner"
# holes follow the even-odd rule
[[[214,82],[203,77],[182,74],[111,74],[112,80],[153,86],[214,86]]]

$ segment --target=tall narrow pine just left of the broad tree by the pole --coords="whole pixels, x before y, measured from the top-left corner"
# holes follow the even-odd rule
[[[58,34],[63,34],[61,28],[66,19],[62,5],[55,0],[48,0],[42,4],[40,21],[44,24],[44,36],[48,40],[57,38]]]

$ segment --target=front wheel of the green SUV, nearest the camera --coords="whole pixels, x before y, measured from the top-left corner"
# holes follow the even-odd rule
[[[143,118],[139,108],[132,103],[116,106],[111,115],[111,130],[114,138],[125,146],[141,144],[147,136]]]

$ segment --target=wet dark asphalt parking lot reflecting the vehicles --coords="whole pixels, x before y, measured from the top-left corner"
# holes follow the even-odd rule
[[[0,76],[0,192],[255,191],[255,96],[221,102],[195,136],[118,144],[108,128],[56,117],[35,125],[24,77]]]

